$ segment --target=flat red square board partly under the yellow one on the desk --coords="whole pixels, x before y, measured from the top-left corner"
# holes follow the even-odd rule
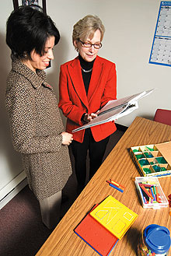
[[[93,209],[95,209],[96,206]],[[118,241],[117,237],[106,230],[105,227],[99,224],[96,219],[92,218],[89,214],[82,219],[82,222],[79,223],[74,232],[102,256],[109,255]]]

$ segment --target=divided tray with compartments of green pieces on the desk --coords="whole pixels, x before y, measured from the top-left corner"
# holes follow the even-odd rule
[[[171,142],[134,146],[130,154],[142,176],[171,175]]]

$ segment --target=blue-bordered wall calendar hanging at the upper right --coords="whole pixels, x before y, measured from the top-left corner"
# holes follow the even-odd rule
[[[149,63],[171,67],[171,2],[160,4]]]

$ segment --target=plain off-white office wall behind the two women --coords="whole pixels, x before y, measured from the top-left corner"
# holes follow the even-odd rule
[[[117,65],[117,97],[156,88],[154,93],[139,101],[138,110],[120,118],[117,123],[129,126],[136,116],[152,119],[156,108],[170,109],[170,68],[148,64],[159,5],[159,0],[47,0],[47,13],[61,33],[60,43],[54,47],[54,61],[47,69],[47,79],[57,96],[59,67],[77,55],[72,46],[72,26],[83,16],[92,14],[99,16],[106,26],[99,56]],[[9,0],[3,2],[0,10],[0,199],[26,177],[20,156],[12,149],[4,105],[5,80],[11,67],[10,51],[5,44],[5,22],[12,9],[12,0]]]

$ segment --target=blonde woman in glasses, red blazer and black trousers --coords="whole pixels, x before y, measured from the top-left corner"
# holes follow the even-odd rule
[[[97,16],[86,16],[75,24],[72,40],[79,56],[61,65],[59,107],[67,117],[66,132],[72,132],[96,118],[96,111],[117,96],[115,64],[100,58],[105,29]],[[86,156],[89,150],[89,177],[102,163],[110,135],[116,131],[114,122],[96,125],[73,133],[72,153],[78,192],[86,182]]]

